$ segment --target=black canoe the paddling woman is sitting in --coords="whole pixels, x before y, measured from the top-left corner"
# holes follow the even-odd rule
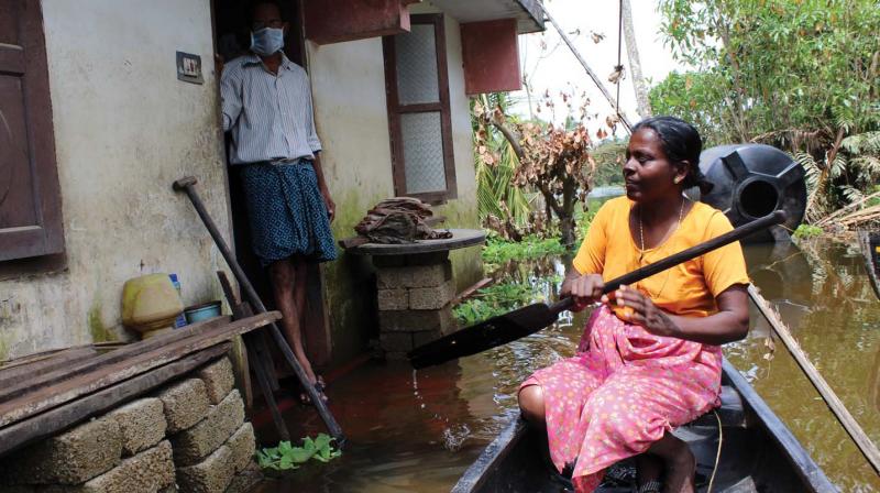
[[[722,380],[723,424],[721,460],[714,492],[837,492],[822,469],[727,361]],[[718,447],[718,419],[707,414],[679,428],[697,459],[697,491],[704,492]],[[516,419],[490,443],[464,472],[453,493],[566,491],[543,459],[541,437]],[[635,468],[623,461],[606,475],[602,493],[635,491]],[[702,479],[702,481],[701,481]]]

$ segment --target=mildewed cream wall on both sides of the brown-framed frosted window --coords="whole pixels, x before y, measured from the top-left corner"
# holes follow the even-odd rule
[[[415,9],[413,13],[417,13]],[[454,19],[447,17],[459,197],[436,210],[447,216],[447,227],[473,228],[477,226],[476,185],[459,31]],[[338,239],[348,238],[354,235],[353,227],[367,208],[394,194],[382,40],[323,46],[308,42],[307,56],[318,133],[323,144],[321,160],[337,202],[333,232]],[[460,287],[480,276],[477,249],[457,251],[452,258]],[[367,259],[341,252],[340,260],[326,264],[323,272],[333,359],[344,361],[363,351],[370,337],[377,336],[373,269]]]

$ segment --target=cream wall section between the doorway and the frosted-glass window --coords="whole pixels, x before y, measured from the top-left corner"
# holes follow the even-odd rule
[[[337,204],[333,234],[348,238],[372,205],[394,195],[382,40],[307,45],[321,164]],[[344,361],[377,335],[373,269],[340,250],[323,272],[332,358]]]

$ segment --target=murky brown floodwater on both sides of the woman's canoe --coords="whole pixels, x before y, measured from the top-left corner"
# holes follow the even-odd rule
[[[820,241],[749,246],[749,272],[801,347],[880,443],[880,302],[858,245]],[[501,267],[498,277],[536,286],[562,274],[560,260]],[[749,338],[728,344],[728,359],[844,492],[880,492],[880,480],[801,373],[781,341],[752,313]],[[366,363],[330,386],[330,407],[350,443],[331,463],[309,463],[260,491],[448,492],[482,449],[517,414],[516,390],[534,370],[572,354],[584,315],[563,316],[507,346],[414,372],[403,363]],[[286,414],[302,435],[323,431],[315,413]],[[263,426],[268,428],[268,426]]]

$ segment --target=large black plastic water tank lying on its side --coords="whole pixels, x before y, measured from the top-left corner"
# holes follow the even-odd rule
[[[700,169],[715,187],[700,200],[743,226],[782,209],[789,220],[752,234],[746,242],[789,241],[804,218],[804,169],[784,152],[763,144],[719,145],[703,151]]]

